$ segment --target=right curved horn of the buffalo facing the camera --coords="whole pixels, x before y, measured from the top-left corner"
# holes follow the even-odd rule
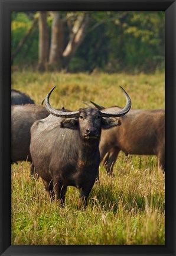
[[[127,94],[125,89],[123,89],[122,87],[120,87],[120,88],[122,89],[122,91],[123,91],[123,93],[125,94],[125,97],[126,97],[125,107],[122,110],[120,110],[118,113],[107,113],[106,111],[100,111],[102,113],[102,117],[120,117],[120,116],[124,116],[130,110],[130,108],[131,108],[131,98],[129,98],[129,95]]]

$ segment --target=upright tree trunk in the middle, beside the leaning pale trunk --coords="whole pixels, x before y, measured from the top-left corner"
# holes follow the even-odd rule
[[[51,28],[51,46],[49,66],[51,69],[61,68],[61,59],[63,54],[63,21],[60,12],[53,12],[53,23]]]

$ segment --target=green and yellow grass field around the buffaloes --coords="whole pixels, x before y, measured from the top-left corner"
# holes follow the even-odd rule
[[[40,104],[47,92],[53,107],[77,110],[82,101],[125,105],[119,85],[126,89],[133,108],[164,108],[164,74],[87,75],[12,73],[12,87]],[[120,152],[115,177],[100,165],[85,210],[77,210],[79,191],[69,187],[66,206],[50,202],[39,178],[30,177],[30,164],[12,165],[12,244],[165,244],[164,175],[155,156],[128,156]]]

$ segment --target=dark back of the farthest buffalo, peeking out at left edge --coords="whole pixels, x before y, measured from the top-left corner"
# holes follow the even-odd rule
[[[23,92],[11,89],[11,104],[12,105],[25,105],[25,104],[34,104],[34,101],[31,98],[24,94]]]

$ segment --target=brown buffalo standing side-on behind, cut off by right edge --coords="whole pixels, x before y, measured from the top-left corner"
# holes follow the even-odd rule
[[[99,110],[120,111],[120,107],[103,108],[93,103]],[[158,168],[165,171],[165,111],[131,109],[119,117],[122,125],[103,130],[100,140],[100,157],[107,170],[112,174],[113,165],[119,151],[125,155],[156,155]],[[105,156],[106,155],[106,156]]]

